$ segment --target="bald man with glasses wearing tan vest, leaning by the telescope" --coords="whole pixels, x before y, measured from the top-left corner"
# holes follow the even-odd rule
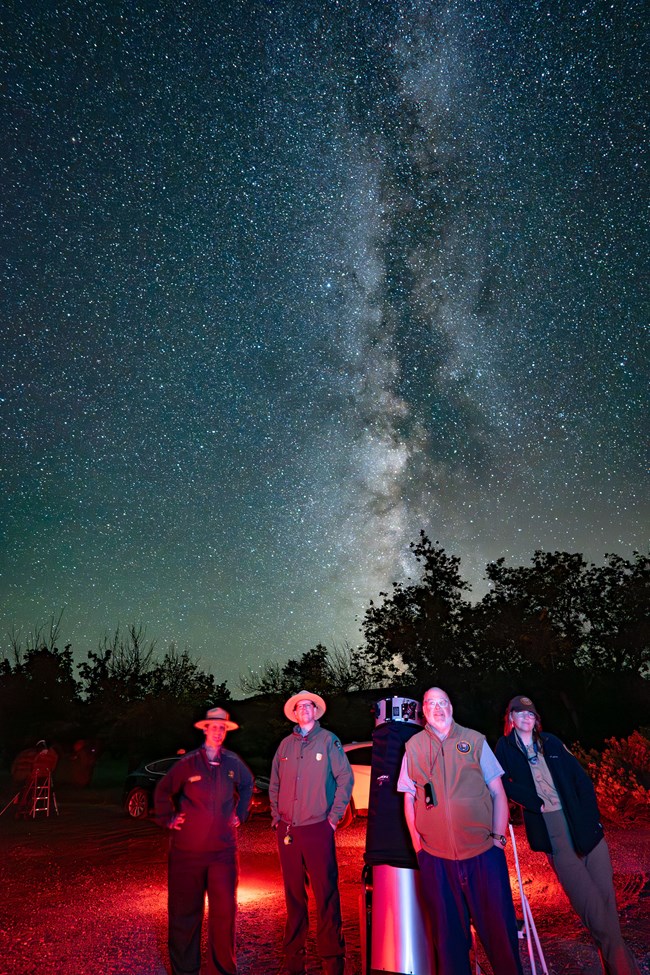
[[[470,975],[470,919],[498,975],[522,975],[504,847],[503,769],[483,735],[453,720],[439,687],[424,695],[424,731],[406,743],[397,788],[429,908],[438,970]]]

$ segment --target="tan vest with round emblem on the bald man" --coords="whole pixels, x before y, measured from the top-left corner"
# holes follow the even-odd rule
[[[444,741],[425,728],[406,743],[415,826],[433,856],[467,860],[493,845],[492,797],[480,765],[484,742],[478,731],[453,722]]]

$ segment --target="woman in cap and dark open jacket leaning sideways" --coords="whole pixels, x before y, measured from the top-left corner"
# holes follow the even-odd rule
[[[496,746],[503,787],[523,808],[531,850],[548,861],[576,914],[594,939],[604,975],[638,975],[621,935],[609,849],[593,783],[577,758],[542,731],[539,712],[525,695],[506,708]]]

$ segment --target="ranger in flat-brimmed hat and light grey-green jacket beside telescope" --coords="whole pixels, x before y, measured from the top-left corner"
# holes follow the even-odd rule
[[[269,799],[287,906],[287,975],[305,975],[307,878],[316,901],[323,973],[345,971],[334,832],[350,801],[353,776],[341,742],[320,726],[325,711],[319,694],[300,691],[289,698],[284,713],[295,726],[280,742],[271,767]]]

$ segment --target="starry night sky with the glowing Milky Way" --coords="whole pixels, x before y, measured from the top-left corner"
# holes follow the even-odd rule
[[[0,651],[361,642],[424,529],[648,544],[635,0],[40,0],[0,50]]]

